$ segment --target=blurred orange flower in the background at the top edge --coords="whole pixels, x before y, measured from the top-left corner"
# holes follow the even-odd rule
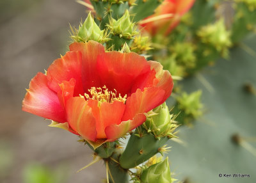
[[[141,26],[152,36],[157,33],[168,35],[172,29],[179,24],[181,16],[188,12],[194,2],[195,0],[164,0],[163,3],[157,7],[154,15],[147,17],[141,22]],[[170,16],[164,18],[162,17],[164,15]],[[154,18],[156,18],[156,20],[154,20]],[[148,20],[150,21],[148,22]]]

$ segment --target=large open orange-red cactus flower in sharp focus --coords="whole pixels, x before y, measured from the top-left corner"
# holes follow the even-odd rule
[[[145,122],[172,93],[170,72],[134,52],[105,52],[95,41],[73,43],[47,74],[29,84],[22,109],[68,123],[89,141],[114,141]]]

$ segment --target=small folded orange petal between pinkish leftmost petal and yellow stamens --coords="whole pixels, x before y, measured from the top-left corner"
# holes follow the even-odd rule
[[[65,108],[66,102],[68,99],[73,97],[74,88],[76,86],[76,80],[74,78],[70,79],[70,81],[63,81],[58,89],[58,98],[60,100],[61,106]]]

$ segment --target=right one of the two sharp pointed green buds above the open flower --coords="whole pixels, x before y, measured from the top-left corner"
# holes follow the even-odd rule
[[[108,25],[111,33],[120,38],[131,40],[134,35],[137,35],[135,23],[131,22],[129,11],[126,10],[124,15],[118,19],[111,19]]]

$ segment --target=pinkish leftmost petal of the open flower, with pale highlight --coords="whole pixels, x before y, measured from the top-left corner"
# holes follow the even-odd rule
[[[22,101],[22,110],[56,122],[67,122],[57,93],[52,91],[47,83],[47,78],[42,72],[38,72],[31,79],[29,90]]]

